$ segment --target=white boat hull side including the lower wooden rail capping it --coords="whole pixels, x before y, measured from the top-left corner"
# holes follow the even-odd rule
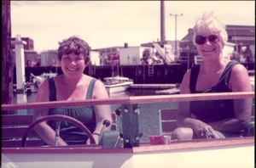
[[[214,163],[212,159],[215,160]],[[37,168],[253,168],[254,137],[198,139],[163,145],[141,143],[140,147],[133,148],[102,148],[100,145],[2,148],[2,165]]]

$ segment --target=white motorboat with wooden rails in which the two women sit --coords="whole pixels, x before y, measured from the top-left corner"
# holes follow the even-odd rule
[[[223,139],[171,140],[180,102],[251,98],[254,92],[176,94],[125,98],[2,104],[3,167],[253,167],[254,134]],[[90,131],[66,115],[32,120],[34,109],[109,104],[113,129],[105,120],[99,144]],[[40,146],[33,127],[55,120],[55,146]],[[91,144],[58,146],[61,120],[81,128]],[[254,105],[251,121],[254,121]],[[253,124],[254,126],[254,124]],[[213,161],[212,161],[213,160]],[[211,163],[209,165],[209,163]]]

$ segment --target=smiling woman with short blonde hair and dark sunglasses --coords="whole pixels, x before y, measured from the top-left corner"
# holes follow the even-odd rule
[[[223,57],[225,28],[212,12],[196,20],[194,44],[203,62],[183,76],[181,94],[252,91],[245,67]],[[251,98],[181,102],[172,139],[240,137],[251,109]]]

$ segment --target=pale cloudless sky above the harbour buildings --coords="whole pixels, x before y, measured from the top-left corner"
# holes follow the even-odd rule
[[[226,25],[254,25],[254,1],[166,1],[166,40],[186,36],[206,11]],[[12,1],[12,36],[34,40],[38,52],[57,49],[58,42],[79,35],[92,49],[140,46],[160,39],[160,1]]]

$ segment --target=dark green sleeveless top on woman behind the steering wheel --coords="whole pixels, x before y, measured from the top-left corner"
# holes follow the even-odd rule
[[[53,78],[49,78],[48,81],[49,101],[56,101],[55,81]],[[92,98],[95,82],[96,79],[92,78],[88,87],[86,99]],[[68,115],[81,121],[90,132],[94,132],[96,129],[96,115],[92,106],[49,109],[49,115]],[[50,120],[49,126],[55,130],[56,121]],[[86,134],[80,128],[73,126],[73,124],[70,124],[67,121],[61,121],[60,136],[67,144],[85,144],[88,139]]]

